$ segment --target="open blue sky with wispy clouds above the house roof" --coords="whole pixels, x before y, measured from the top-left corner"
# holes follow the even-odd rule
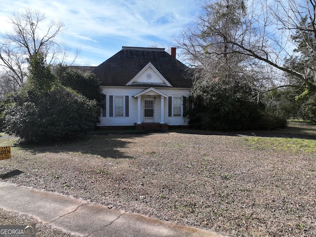
[[[199,10],[196,0],[0,0],[0,34],[10,30],[8,16],[25,8],[64,24],[58,40],[70,47],[70,58],[80,49],[79,66],[98,66],[122,46],[156,45],[170,53],[172,37]]]

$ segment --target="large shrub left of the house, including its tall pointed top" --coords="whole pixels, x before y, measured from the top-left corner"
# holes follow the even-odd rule
[[[96,101],[61,85],[41,55],[30,65],[28,83],[6,105],[5,131],[25,142],[46,143],[92,130],[99,119]]]

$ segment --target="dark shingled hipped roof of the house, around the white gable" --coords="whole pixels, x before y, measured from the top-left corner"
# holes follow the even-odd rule
[[[173,87],[192,87],[190,69],[164,48],[122,47],[92,72],[101,85],[124,86],[150,62]]]

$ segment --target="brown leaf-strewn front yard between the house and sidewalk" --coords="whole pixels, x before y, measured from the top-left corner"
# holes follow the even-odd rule
[[[315,132],[294,124],[291,134],[248,135]],[[0,160],[0,180],[233,237],[316,236],[316,152],[256,146],[245,134],[113,132],[13,146],[12,158]],[[2,213],[0,224],[19,216]],[[39,224],[40,236],[58,236]]]

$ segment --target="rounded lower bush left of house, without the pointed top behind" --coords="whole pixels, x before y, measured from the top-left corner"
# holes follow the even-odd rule
[[[5,111],[5,131],[22,141],[47,143],[78,138],[98,122],[96,102],[60,86],[36,98],[19,94]]]

